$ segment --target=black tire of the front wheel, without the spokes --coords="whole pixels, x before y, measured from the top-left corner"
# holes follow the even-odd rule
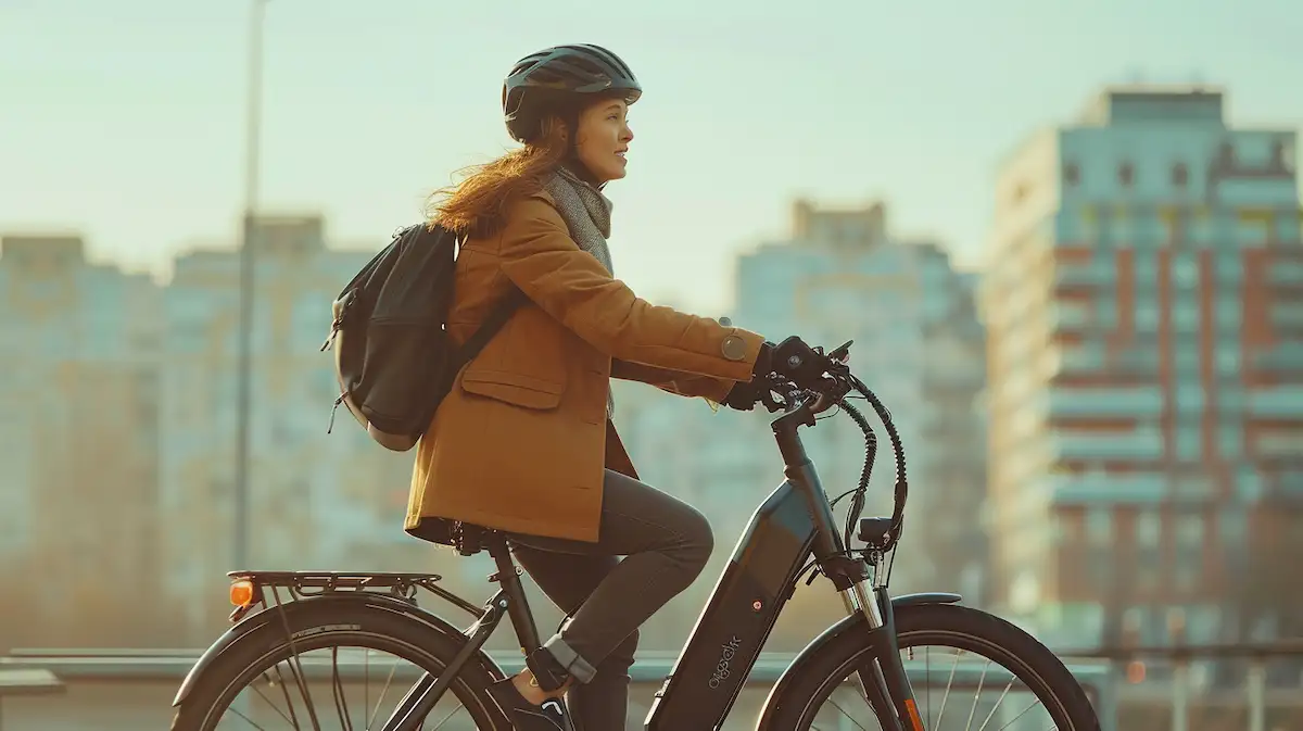
[[[1003,665],[1041,698],[1057,728],[1100,731],[1081,684],[1045,645],[1014,624],[958,605],[900,607],[895,612],[900,649],[950,646]],[[868,632],[848,632],[809,659],[801,676],[771,704],[767,728],[809,731],[820,708],[852,668],[873,650]],[[1052,708],[1052,701],[1053,706]]]

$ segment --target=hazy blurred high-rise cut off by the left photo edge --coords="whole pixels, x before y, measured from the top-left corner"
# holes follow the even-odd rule
[[[79,236],[0,240],[0,646],[158,628],[159,304]]]

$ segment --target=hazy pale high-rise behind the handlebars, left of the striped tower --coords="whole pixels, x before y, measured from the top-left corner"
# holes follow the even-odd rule
[[[984,334],[972,279],[932,241],[894,235],[886,208],[792,207],[787,241],[739,261],[736,321],[770,337],[801,335],[831,349],[853,340],[851,364],[891,412],[909,478],[906,532],[893,569],[899,590],[959,590],[980,602],[985,450],[975,400],[985,386]],[[877,421],[872,408],[859,408]],[[878,452],[865,515],[890,515],[891,444]],[[859,480],[859,427],[844,417],[805,437],[834,495]]]

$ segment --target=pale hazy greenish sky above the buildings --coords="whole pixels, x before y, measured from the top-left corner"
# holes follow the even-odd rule
[[[165,271],[242,201],[246,0],[0,0],[0,232],[82,232]],[[885,197],[975,259],[1001,158],[1104,83],[1227,87],[1233,122],[1303,120],[1298,0],[271,0],[262,201],[387,242],[457,167],[508,146],[520,56],[592,42],[645,95],[616,274],[706,314],[796,194]],[[343,284],[343,283],[341,283]]]

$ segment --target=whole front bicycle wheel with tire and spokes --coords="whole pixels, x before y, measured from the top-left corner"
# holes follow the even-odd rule
[[[898,609],[895,624],[900,657],[926,731],[1098,731],[1089,698],[1063,662],[1009,622],[969,607],[923,605]],[[786,688],[775,688],[761,727],[880,728],[868,702],[850,681],[874,650],[863,622],[830,637],[799,668],[794,667]],[[977,662],[962,663],[964,655]],[[989,692],[986,698],[984,691]],[[958,701],[959,708],[947,709],[947,701]]]

